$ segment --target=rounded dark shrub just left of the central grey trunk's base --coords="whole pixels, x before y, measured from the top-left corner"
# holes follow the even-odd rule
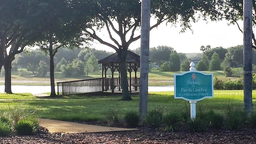
[[[136,127],[140,122],[140,116],[138,112],[134,112],[134,111],[127,112],[126,114],[124,114],[124,121],[128,126]]]

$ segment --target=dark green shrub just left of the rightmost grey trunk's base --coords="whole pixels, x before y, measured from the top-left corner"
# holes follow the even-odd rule
[[[226,117],[226,128],[229,130],[238,130],[242,128],[246,121],[246,112],[238,110],[228,110]]]

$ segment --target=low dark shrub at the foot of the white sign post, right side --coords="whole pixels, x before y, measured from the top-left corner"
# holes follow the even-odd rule
[[[194,132],[202,132],[208,129],[208,122],[206,119],[197,117],[188,122],[190,130]]]

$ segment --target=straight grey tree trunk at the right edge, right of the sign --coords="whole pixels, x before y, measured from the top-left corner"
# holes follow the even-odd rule
[[[252,112],[252,0],[244,0],[244,110]]]

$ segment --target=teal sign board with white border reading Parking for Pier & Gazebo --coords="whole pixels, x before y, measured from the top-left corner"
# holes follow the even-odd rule
[[[213,74],[199,71],[174,74],[174,98],[188,101],[213,98]]]

